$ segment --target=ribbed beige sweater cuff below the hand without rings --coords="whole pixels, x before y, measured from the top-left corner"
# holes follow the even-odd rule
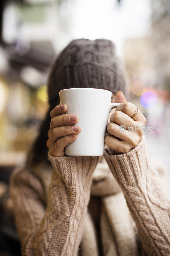
[[[92,173],[99,161],[99,156],[51,156],[48,160],[69,187],[91,185]]]

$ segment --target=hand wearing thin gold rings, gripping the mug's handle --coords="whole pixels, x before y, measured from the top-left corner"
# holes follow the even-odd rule
[[[140,126],[146,124],[146,118],[140,111],[134,119],[130,117],[134,115],[136,107],[127,102],[120,91],[116,93],[115,103],[122,104],[116,108],[115,113],[110,117],[110,123],[107,124],[107,132],[111,135],[107,135],[104,141],[108,147],[114,150],[114,154],[122,154],[129,152],[139,144],[144,133],[140,130]],[[126,130],[121,131],[120,125],[125,126]],[[129,126],[133,127],[132,131],[128,131]]]

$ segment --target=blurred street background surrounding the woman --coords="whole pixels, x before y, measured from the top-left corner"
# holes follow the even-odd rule
[[[49,68],[77,38],[115,43],[129,79],[128,101],[147,118],[150,156],[170,177],[170,1],[1,0],[0,5],[0,196],[48,108]]]

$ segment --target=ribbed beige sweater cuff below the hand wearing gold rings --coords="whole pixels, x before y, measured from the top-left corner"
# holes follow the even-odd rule
[[[144,136],[137,147],[128,153],[112,155],[111,148],[106,148],[104,157],[115,179],[122,187],[136,187],[143,184],[143,182],[146,183],[149,157]]]

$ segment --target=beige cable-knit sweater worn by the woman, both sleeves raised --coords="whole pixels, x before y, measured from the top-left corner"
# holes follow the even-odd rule
[[[90,198],[92,174],[100,157],[53,157],[49,153],[48,158],[54,167],[48,195],[36,172],[16,170],[11,178],[11,196],[22,255],[76,256],[81,253],[78,248],[83,231],[88,229],[83,224]],[[170,203],[159,173],[149,161],[144,138],[126,154],[112,155],[112,150],[107,147],[104,158],[126,199],[143,255],[170,255]],[[112,201],[109,198],[107,203],[111,207]],[[118,202],[121,198],[117,197]],[[112,221],[107,222],[108,226],[113,226]],[[105,233],[108,232],[111,231],[107,229]],[[119,239],[115,238],[115,244]],[[126,244],[128,246],[127,241]],[[105,250],[103,255],[137,255],[128,252],[123,254],[121,250],[116,252],[114,246],[112,250],[115,250],[115,254]],[[83,251],[82,255],[85,255]]]

